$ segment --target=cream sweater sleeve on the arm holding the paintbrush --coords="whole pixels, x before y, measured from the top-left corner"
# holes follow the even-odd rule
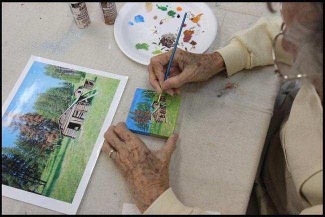
[[[261,17],[249,28],[233,34],[228,45],[216,50],[224,60],[227,75],[243,68],[273,64],[272,41],[280,32],[281,23],[280,16]],[[292,64],[290,53],[283,50],[280,42],[276,43],[275,50],[277,59]]]

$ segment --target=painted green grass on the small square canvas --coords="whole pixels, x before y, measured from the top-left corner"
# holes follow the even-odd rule
[[[164,122],[156,123],[155,120],[151,117],[150,127],[149,127],[149,133],[151,134],[157,134],[164,137],[169,137],[172,135],[174,131],[174,127],[176,124],[176,119],[178,115],[178,108],[180,105],[180,96],[179,95],[167,95],[162,94],[166,96],[165,103],[167,104],[166,109],[166,119]]]

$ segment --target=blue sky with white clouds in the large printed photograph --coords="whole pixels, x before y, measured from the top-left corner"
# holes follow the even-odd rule
[[[37,93],[45,92],[50,87],[61,86],[60,82],[64,80],[43,74],[45,65],[42,62],[33,62],[5,112],[14,114],[32,112]],[[10,121],[10,116],[2,116],[2,147],[15,146],[14,141],[19,134],[19,130],[13,131],[8,127]]]

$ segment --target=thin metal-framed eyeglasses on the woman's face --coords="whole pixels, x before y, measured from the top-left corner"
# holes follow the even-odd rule
[[[280,14],[282,16],[282,3],[280,3],[279,5],[280,7]],[[283,20],[283,16],[282,16],[282,20]],[[276,56],[275,56],[275,45],[276,45],[276,39],[279,38],[280,35],[284,36],[284,31],[285,31],[285,23],[282,22],[281,24],[281,29],[280,29],[280,33],[278,33],[272,43],[272,58],[273,58],[273,62],[274,62],[274,72],[276,74],[278,74],[278,76],[282,79],[282,80],[292,80],[292,79],[300,79],[300,78],[304,78],[304,77],[315,77],[315,76],[319,76],[319,74],[305,74],[305,73],[298,73],[298,74],[290,74],[290,73],[285,73],[289,70],[284,70],[285,65],[284,63],[281,63],[279,61],[276,60]],[[280,66],[281,65],[281,66]],[[281,67],[281,70],[279,69],[279,66]],[[286,66],[288,67],[288,66]]]

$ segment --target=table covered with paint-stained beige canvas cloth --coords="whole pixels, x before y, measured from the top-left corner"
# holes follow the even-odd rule
[[[261,16],[276,15],[266,3],[209,2],[218,33],[206,52],[222,47],[234,32]],[[116,3],[119,10],[123,3]],[[137,87],[152,89],[147,67],[118,48],[113,25],[103,22],[97,2],[87,3],[91,24],[76,27],[68,4],[2,3],[2,104],[30,55],[129,76],[112,124],[125,121]],[[217,90],[234,82],[224,97]],[[185,84],[175,131],[179,133],[169,167],[170,186],[188,206],[228,214],[244,214],[280,82],[272,66],[224,74],[201,83]],[[164,140],[140,136],[149,148]],[[57,212],[2,196],[2,214]],[[100,153],[78,214],[120,214],[123,203],[134,203],[113,161]]]

